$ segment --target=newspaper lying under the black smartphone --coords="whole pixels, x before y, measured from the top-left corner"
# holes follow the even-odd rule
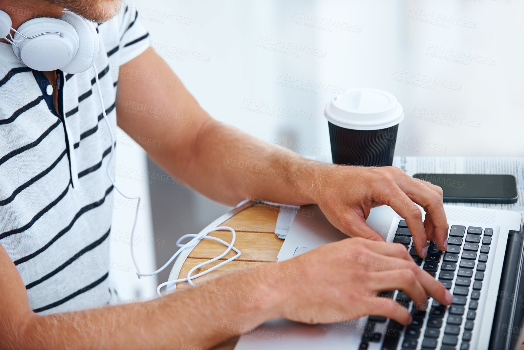
[[[524,213],[524,157],[395,157],[409,176],[430,174],[506,174],[517,179],[519,198],[515,204],[446,203],[465,207],[505,209]]]

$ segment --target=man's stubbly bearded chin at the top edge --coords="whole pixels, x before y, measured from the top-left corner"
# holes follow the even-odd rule
[[[116,16],[123,0],[45,0],[53,5],[68,9],[96,23],[103,23]]]

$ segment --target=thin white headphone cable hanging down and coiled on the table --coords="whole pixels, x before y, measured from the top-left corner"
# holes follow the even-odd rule
[[[195,279],[195,278],[198,278],[208,272],[211,272],[213,271],[214,269],[217,269],[221,266],[223,266],[224,264],[230,262],[230,261],[233,261],[235,260],[236,258],[238,258],[241,254],[241,252],[236,249],[235,247],[233,247],[233,245],[235,244],[235,238],[236,238],[236,233],[235,233],[235,230],[231,227],[228,227],[228,226],[219,226],[219,227],[215,227],[215,228],[212,228],[212,229],[209,229],[209,230],[206,230],[206,231],[203,231],[203,232],[200,232],[198,235],[195,235],[195,234],[188,234],[188,235],[184,235],[182,237],[180,237],[178,240],[177,240],[177,246],[180,247],[179,250],[177,250],[176,253],[173,254],[173,256],[171,257],[171,259],[169,259],[160,269],[154,271],[154,272],[150,272],[150,273],[140,273],[140,270],[138,269],[138,264],[136,263],[136,260],[135,260],[135,254],[134,254],[134,251],[133,251],[133,238],[134,238],[134,232],[135,232],[135,227],[136,227],[136,222],[137,222],[137,218],[138,218],[138,208],[140,207],[140,197],[130,197],[130,196],[126,196],[125,194],[122,193],[122,191],[116,186],[116,183],[113,179],[113,177],[111,176],[111,172],[110,172],[110,166],[111,166],[111,162],[113,160],[113,155],[115,153],[115,137],[114,137],[114,134],[113,134],[113,129],[111,128],[111,124],[109,122],[109,119],[107,118],[107,115],[105,113],[105,107],[104,107],[104,99],[102,97],[102,90],[100,89],[100,82],[99,82],[99,77],[98,77],[98,70],[96,69],[96,65],[93,63],[93,70],[95,72],[95,82],[96,82],[96,88],[98,90],[98,95],[99,95],[99,99],[100,99],[100,104],[101,104],[101,107],[102,107],[102,115],[104,116],[104,120],[105,120],[105,123],[107,125],[107,129],[109,130],[109,134],[111,136],[111,153],[110,153],[110,156],[108,158],[108,161],[107,161],[107,168],[106,168],[106,172],[107,172],[107,176],[109,177],[111,183],[113,184],[113,187],[118,191],[119,194],[121,194],[123,197],[127,198],[127,199],[137,199],[137,205],[136,205],[136,213],[135,213],[135,219],[133,221],[133,228],[131,229],[131,237],[130,237],[130,248],[131,248],[131,258],[133,260],[133,264],[137,270],[137,275],[138,275],[138,278],[140,277],[148,277],[148,276],[152,276],[152,275],[155,275],[159,272],[161,272],[162,270],[164,270],[165,268],[167,268],[169,266],[169,264],[180,254],[180,252],[182,252],[184,249],[187,249],[187,248],[192,248],[194,247],[196,244],[198,244],[198,242],[200,242],[202,239],[212,239],[212,240],[215,240],[217,242],[220,242],[222,243],[223,245],[227,246],[226,250],[224,250],[224,252],[222,254],[220,254],[219,256],[213,258],[213,259],[210,259],[210,260],[207,260],[207,261],[204,261],[198,265],[196,265],[195,267],[193,267],[189,272],[188,272],[188,275],[186,278],[182,278],[182,279],[178,279],[178,280],[174,280],[174,281],[167,281],[167,282],[164,282],[164,283],[161,283],[158,287],[157,287],[157,294],[158,296],[162,296],[160,294],[160,289],[164,286],[164,285],[172,285],[172,284],[176,284],[178,282],[185,282],[185,281],[188,281],[189,284],[191,284],[193,287],[196,287],[196,284],[194,284],[191,280],[192,279]],[[211,232],[214,232],[214,231],[217,231],[217,230],[229,230],[231,231],[232,235],[233,235],[233,238],[231,239],[231,243],[227,243],[226,241],[220,239],[220,238],[216,238],[216,237],[209,237],[207,236],[208,234],[210,234]],[[185,243],[185,244],[182,244],[180,243],[182,240],[184,240],[185,238],[188,238],[188,237],[193,237],[193,239],[191,239],[189,242]],[[223,258],[228,252],[230,252],[230,250],[234,250],[236,252],[236,255],[232,258],[229,258],[205,271],[202,271],[198,274],[195,274],[194,276],[191,275],[191,273],[193,273],[194,270],[202,267],[202,266],[205,266],[206,264],[209,264],[211,262],[214,262],[216,260],[219,260],[221,258]]]

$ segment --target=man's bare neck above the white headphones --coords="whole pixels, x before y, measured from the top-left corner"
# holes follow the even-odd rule
[[[22,23],[37,17],[57,18],[63,8],[43,0],[0,0],[0,9],[4,10],[17,29]]]

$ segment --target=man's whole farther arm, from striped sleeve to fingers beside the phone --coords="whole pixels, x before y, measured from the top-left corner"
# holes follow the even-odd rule
[[[173,177],[203,195],[228,205],[250,197],[316,203],[345,234],[375,240],[384,238],[365,220],[372,207],[386,204],[406,219],[419,256],[425,257],[427,240],[446,250],[440,187],[395,167],[310,161],[217,122],[151,48],[119,72],[118,125]],[[427,211],[424,222],[413,202]]]

